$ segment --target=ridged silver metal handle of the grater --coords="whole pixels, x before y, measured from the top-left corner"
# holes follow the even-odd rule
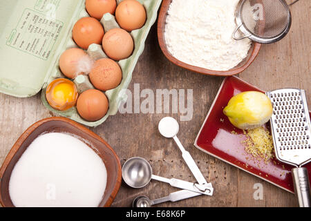
[[[310,183],[308,169],[304,167],[292,169],[294,189],[300,207],[311,207]]]

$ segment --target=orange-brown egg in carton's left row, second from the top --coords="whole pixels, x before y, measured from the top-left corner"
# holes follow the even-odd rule
[[[85,50],[91,44],[102,44],[104,37],[104,28],[97,19],[84,17],[79,19],[73,26],[73,40],[75,43]]]

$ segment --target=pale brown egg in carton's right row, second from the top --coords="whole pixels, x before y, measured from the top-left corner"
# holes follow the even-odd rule
[[[126,30],[113,28],[104,35],[102,47],[108,57],[120,61],[131,56],[134,49],[134,41]]]

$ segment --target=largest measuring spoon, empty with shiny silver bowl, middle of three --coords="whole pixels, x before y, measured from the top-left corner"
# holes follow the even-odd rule
[[[149,184],[151,179],[153,179],[160,182],[166,182],[171,186],[180,189],[186,189],[205,195],[212,195],[214,191],[214,189],[207,186],[207,184],[195,184],[175,178],[167,179],[158,175],[153,175],[151,165],[147,162],[147,160],[144,160],[144,158],[141,157],[133,157],[126,160],[122,167],[122,177],[124,182],[133,188],[144,187]]]

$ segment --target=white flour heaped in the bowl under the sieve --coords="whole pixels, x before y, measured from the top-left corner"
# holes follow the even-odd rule
[[[171,55],[210,70],[229,70],[241,63],[251,41],[232,38],[238,1],[173,0],[164,31]]]

